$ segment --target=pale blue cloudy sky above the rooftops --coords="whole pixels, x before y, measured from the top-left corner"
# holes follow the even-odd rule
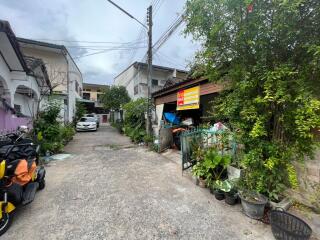
[[[154,4],[154,42],[183,11],[185,0],[113,0],[142,22]],[[68,47],[84,82],[112,84],[113,77],[146,53],[146,31],[107,0],[0,0],[1,18],[16,36]],[[187,68],[198,44],[182,24],[154,55],[154,64]],[[91,55],[92,54],[92,55]]]

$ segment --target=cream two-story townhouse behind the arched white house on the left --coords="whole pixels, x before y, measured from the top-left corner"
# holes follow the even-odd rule
[[[54,96],[63,106],[60,116],[71,122],[75,116],[76,100],[82,97],[82,74],[63,45],[18,38],[25,56],[40,58],[46,65]]]

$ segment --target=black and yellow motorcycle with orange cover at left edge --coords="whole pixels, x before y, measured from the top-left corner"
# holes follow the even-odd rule
[[[9,229],[16,207],[31,203],[45,187],[39,146],[24,136],[19,130],[0,139],[0,236]]]

